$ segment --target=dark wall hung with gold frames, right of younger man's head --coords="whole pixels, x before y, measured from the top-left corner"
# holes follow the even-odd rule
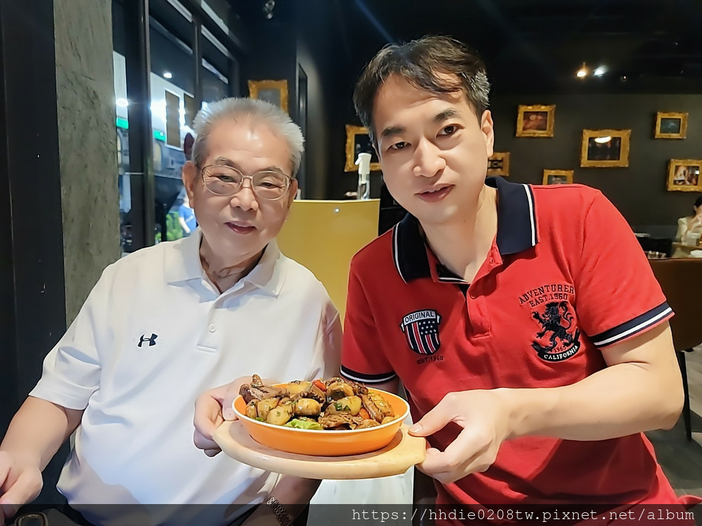
[[[555,104],[554,136],[515,137],[519,104]],[[575,170],[633,227],[670,225],[698,194],[667,191],[669,159],[702,159],[702,95],[550,95],[492,100],[496,151],[510,152],[510,180],[540,184],[543,170]],[[656,112],[688,112],[687,139],[654,139]],[[630,129],[628,168],[581,168],[583,129]],[[673,228],[673,233],[675,229]]]

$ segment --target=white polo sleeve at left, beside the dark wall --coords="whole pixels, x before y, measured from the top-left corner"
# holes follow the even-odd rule
[[[84,410],[100,384],[100,344],[107,332],[112,279],[102,273],[65,335],[44,358],[41,378],[29,396],[67,409]],[[111,273],[110,273],[111,274]]]

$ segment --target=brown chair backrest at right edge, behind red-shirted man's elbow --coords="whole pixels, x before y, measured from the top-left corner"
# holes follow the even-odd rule
[[[670,320],[675,350],[687,351],[701,344],[702,259],[649,259],[649,263],[675,312]]]

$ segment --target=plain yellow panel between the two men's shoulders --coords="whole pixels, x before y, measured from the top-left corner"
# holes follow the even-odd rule
[[[380,201],[295,201],[278,246],[310,269],[329,292],[343,323],[349,263],[378,236]]]

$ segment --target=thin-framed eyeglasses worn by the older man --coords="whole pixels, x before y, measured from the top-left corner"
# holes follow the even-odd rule
[[[211,164],[202,168],[202,180],[206,189],[218,196],[233,196],[241,190],[244,179],[251,180],[251,189],[256,197],[275,201],[282,198],[290,188],[291,177],[278,170],[262,170],[244,175],[237,168]]]

